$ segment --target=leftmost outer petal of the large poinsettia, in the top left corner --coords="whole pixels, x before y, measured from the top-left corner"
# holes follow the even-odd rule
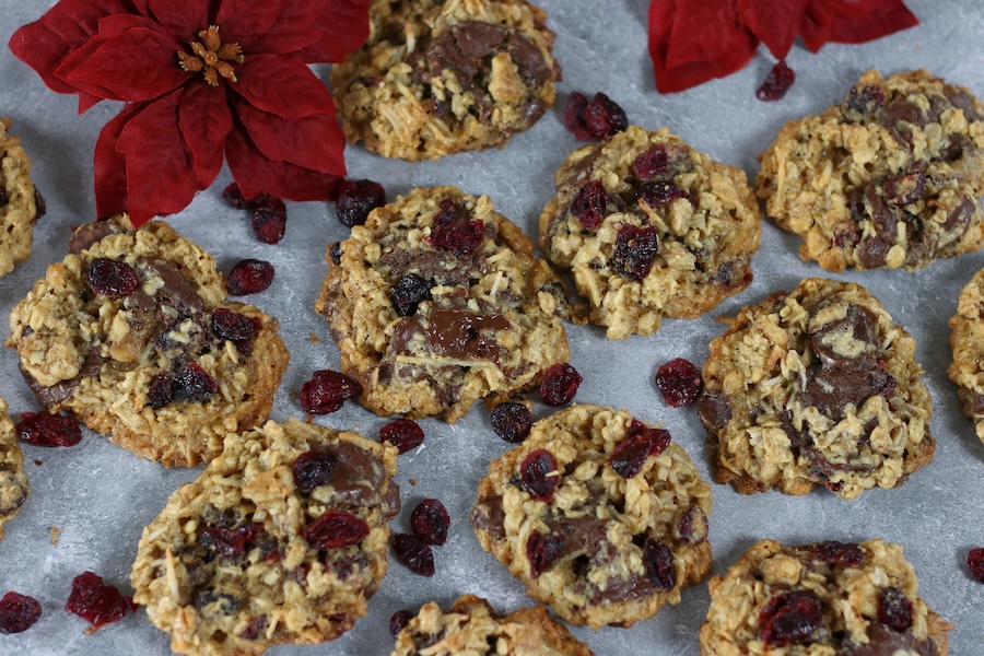
[[[55,75],[61,61],[98,32],[99,19],[132,13],[129,0],[61,0],[40,19],[22,26],[10,38],[14,56],[33,68],[48,89],[75,93],[69,83]]]

